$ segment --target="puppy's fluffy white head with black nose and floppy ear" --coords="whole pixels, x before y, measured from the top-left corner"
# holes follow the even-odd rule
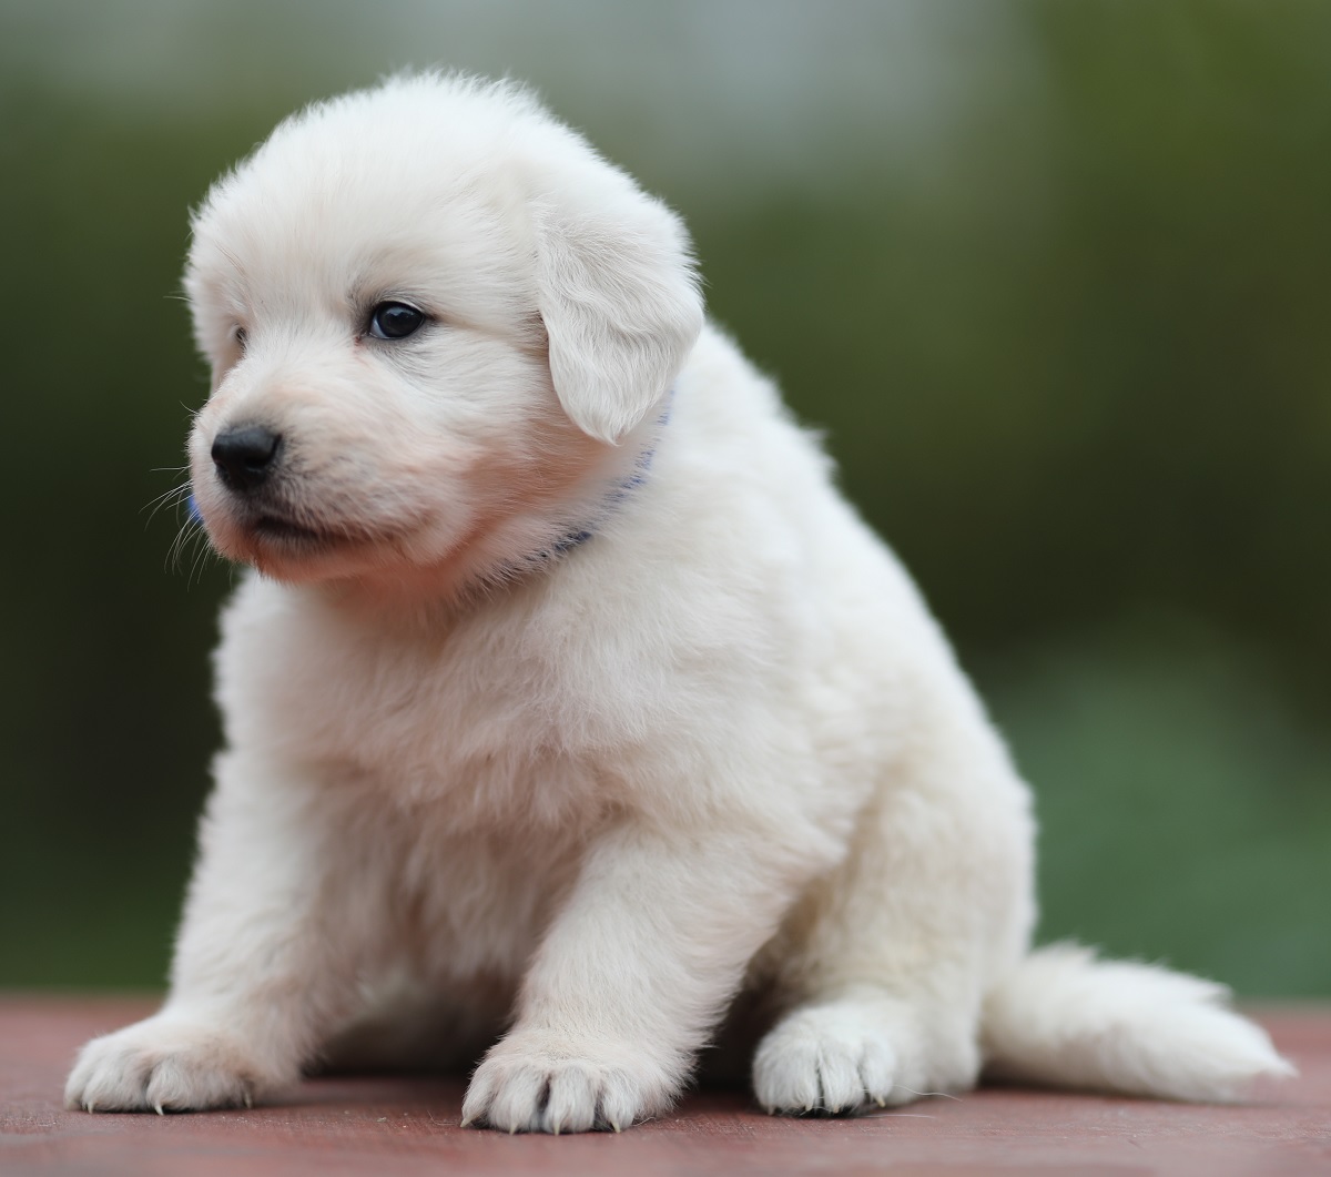
[[[677,220],[506,85],[313,107],[193,228],[194,499],[286,581],[457,581],[548,543],[701,328]]]

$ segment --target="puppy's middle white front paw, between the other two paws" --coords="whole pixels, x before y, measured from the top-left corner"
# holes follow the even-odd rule
[[[514,1031],[471,1077],[462,1122],[503,1132],[628,1128],[669,1108],[676,1082],[644,1051]]]

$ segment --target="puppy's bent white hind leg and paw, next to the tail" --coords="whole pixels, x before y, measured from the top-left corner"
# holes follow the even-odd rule
[[[847,860],[787,920],[783,1016],[753,1085],[772,1112],[853,1112],[964,1090],[980,1007],[1033,920],[1025,786],[969,695],[917,724]]]

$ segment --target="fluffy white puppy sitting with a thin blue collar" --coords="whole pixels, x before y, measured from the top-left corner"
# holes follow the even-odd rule
[[[466,1122],[618,1129],[723,1023],[785,1112],[1288,1069],[1219,987],[1029,952],[1028,790],[945,639],[705,324],[679,221],[530,96],[284,122],[186,289],[194,495],[257,575],[170,996],[69,1106],[480,1037]]]

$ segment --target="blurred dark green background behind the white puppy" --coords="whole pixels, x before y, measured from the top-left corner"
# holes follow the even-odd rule
[[[1042,936],[1331,995],[1331,5],[0,0],[0,985],[157,987],[229,571],[186,210],[294,107],[535,83],[688,220],[1033,780]]]

